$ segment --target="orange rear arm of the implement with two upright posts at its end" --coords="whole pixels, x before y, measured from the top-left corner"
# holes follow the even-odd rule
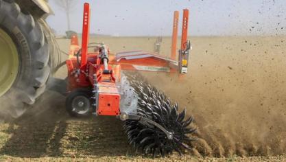
[[[189,61],[188,27],[189,10],[184,9],[182,21],[182,42],[181,48],[177,51],[178,21],[179,12],[174,12],[173,35],[171,45],[171,58],[152,54],[146,51],[128,51],[116,55],[116,60],[110,61],[111,64],[121,65],[123,70],[135,71],[156,71],[156,72],[177,72],[187,73]],[[178,55],[177,55],[178,53]],[[182,70],[183,69],[183,70]]]

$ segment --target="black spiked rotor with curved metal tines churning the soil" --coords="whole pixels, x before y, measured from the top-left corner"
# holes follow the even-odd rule
[[[153,124],[127,120],[124,128],[128,135],[128,142],[134,146],[136,152],[142,150],[144,154],[162,155],[173,151],[182,155],[183,150],[190,150],[189,144],[195,139],[188,136],[195,132],[190,128],[193,117],[184,119],[186,110],[178,113],[178,104],[171,105],[170,100],[154,86],[147,84],[138,73],[126,73],[130,85],[139,95],[137,115],[160,124],[171,132],[172,138]]]

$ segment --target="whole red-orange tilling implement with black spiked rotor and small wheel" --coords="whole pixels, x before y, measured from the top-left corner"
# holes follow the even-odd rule
[[[195,131],[189,125],[193,117],[184,119],[186,111],[178,113],[178,104],[154,86],[147,84],[138,73],[121,71],[159,71],[187,73],[190,43],[187,40],[189,10],[184,10],[182,45],[176,61],[178,12],[174,14],[171,58],[146,51],[110,54],[103,43],[88,43],[90,25],[89,4],[84,4],[82,46],[73,35],[68,68],[67,111],[72,116],[108,115],[124,121],[128,141],[145,154],[165,155],[191,149]],[[88,50],[91,49],[91,50]],[[91,52],[92,51],[92,52]]]

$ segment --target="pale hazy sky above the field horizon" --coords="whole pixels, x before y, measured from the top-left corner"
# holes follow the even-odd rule
[[[49,25],[67,30],[64,11],[49,0]],[[91,33],[114,36],[171,35],[173,14],[190,10],[191,35],[286,34],[286,0],[75,0],[71,30],[82,31],[84,2],[91,3]]]

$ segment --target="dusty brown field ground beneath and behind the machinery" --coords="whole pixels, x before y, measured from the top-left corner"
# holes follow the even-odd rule
[[[153,51],[156,38],[93,38],[112,52]],[[198,126],[184,157],[134,154],[112,117],[74,119],[64,96],[47,91],[29,111],[0,124],[0,161],[286,161],[286,37],[194,37],[183,79],[143,73]],[[67,51],[69,40],[59,40]],[[169,54],[163,38],[161,54]],[[65,78],[63,67],[56,77]]]

